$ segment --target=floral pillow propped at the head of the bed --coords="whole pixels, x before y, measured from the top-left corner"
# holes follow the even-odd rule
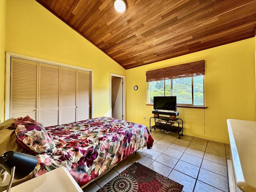
[[[39,122],[26,116],[17,118],[14,125],[17,126],[15,133],[18,143],[27,150],[46,154],[52,154],[56,151],[52,136]]]

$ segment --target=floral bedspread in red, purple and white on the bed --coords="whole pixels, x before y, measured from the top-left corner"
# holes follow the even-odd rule
[[[145,125],[101,117],[45,128],[56,151],[38,154],[32,177],[65,166],[80,186],[84,186],[153,139]]]

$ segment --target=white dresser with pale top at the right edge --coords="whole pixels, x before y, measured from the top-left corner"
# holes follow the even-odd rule
[[[256,121],[228,119],[230,159],[237,186],[256,192]]]

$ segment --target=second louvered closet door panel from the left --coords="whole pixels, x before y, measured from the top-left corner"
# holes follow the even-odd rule
[[[39,63],[39,122],[44,126],[59,123],[59,66]]]

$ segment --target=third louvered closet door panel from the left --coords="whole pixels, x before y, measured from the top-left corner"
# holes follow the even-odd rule
[[[60,124],[76,121],[76,69],[61,67]]]

